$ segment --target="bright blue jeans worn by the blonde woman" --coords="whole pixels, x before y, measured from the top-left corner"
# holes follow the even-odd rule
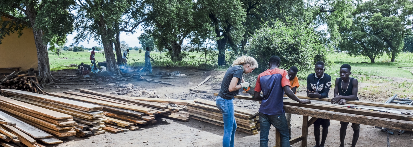
[[[224,120],[224,137],[222,140],[223,147],[234,147],[235,130],[237,129],[237,123],[234,116],[234,102],[233,100],[227,100],[216,97],[216,107],[221,111]],[[288,130],[287,130],[288,133]]]

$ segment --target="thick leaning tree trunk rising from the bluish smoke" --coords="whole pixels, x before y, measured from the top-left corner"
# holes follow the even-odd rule
[[[104,54],[106,58],[106,70],[108,72],[113,72],[120,77],[123,77],[123,73],[119,70],[118,64],[116,63],[115,54],[113,53],[111,37],[114,35],[109,35],[106,25],[103,20],[103,16],[100,16],[99,20],[100,37],[102,38],[102,44],[104,48]]]

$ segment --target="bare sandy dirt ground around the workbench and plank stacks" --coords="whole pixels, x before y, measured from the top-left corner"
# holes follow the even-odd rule
[[[194,100],[196,98],[202,98],[206,100],[215,100],[214,93],[218,92],[220,88],[220,80],[222,80],[222,71],[202,71],[197,69],[176,69],[176,68],[153,68],[153,72],[160,71],[180,71],[187,75],[185,77],[175,79],[164,79],[162,81],[170,82],[174,84],[158,84],[144,81],[116,81],[122,84],[126,82],[132,83],[134,86],[138,86],[143,89],[156,90],[161,98],[170,99],[185,99]],[[59,74],[60,72],[60,74]],[[74,75],[75,70],[58,71],[54,72],[55,77],[62,75]],[[207,76],[212,75],[208,82],[199,86],[198,90],[208,91],[207,93],[192,93],[190,88],[202,82]],[[132,79],[135,80],[135,79]],[[159,80],[159,79],[157,79]],[[404,80],[404,79],[403,79]],[[69,82],[66,80],[65,82]],[[45,89],[47,92],[62,92],[69,89],[79,88],[94,88],[103,86],[112,81],[100,81],[98,83],[93,82],[95,85],[59,85],[61,88],[56,89],[49,87]],[[192,82],[194,84],[188,84]],[[255,82],[255,81],[247,81]],[[72,82],[74,83],[74,82]],[[91,83],[91,82],[79,82],[79,83]],[[370,84],[362,84],[361,86],[370,86]],[[65,89],[68,88],[68,89]],[[305,88],[301,88],[305,89]],[[110,93],[116,91],[116,89],[93,89],[95,91]],[[304,93],[304,91],[299,91]],[[241,93],[240,93],[241,94]],[[330,90],[330,96],[332,96],[332,90]],[[385,96],[387,97],[387,96]],[[248,109],[257,110],[259,103],[256,101],[235,99],[235,106],[244,107]],[[180,107],[185,107],[179,105]],[[188,112],[181,111],[178,114],[183,116],[189,116]],[[195,119],[190,119],[188,122],[175,121],[165,118],[157,118],[157,124],[143,126],[137,131],[129,131],[126,133],[105,133],[102,135],[96,135],[86,138],[69,137],[63,139],[64,143],[59,145],[47,145],[47,147],[67,146],[67,147],[219,147],[222,146],[223,127],[208,124]],[[299,136],[301,134],[302,116],[292,114],[292,137]],[[339,121],[331,121],[329,128],[329,135],[325,143],[325,147],[339,146]],[[353,131],[349,125],[347,129],[347,137],[345,140],[346,147],[351,146],[351,138]],[[413,144],[413,133],[406,132],[402,135],[390,135],[390,145],[398,147],[411,147]],[[269,145],[275,145],[275,128],[271,128],[269,135]],[[358,139],[357,146],[359,147],[387,147],[387,134],[380,131],[380,129],[374,128],[374,126],[361,125],[360,137]],[[308,147],[313,147],[315,144],[313,126],[309,128]],[[236,147],[258,147],[259,146],[259,134],[250,135],[246,133],[236,132],[235,135]],[[301,147],[301,142],[293,145],[293,147]]]

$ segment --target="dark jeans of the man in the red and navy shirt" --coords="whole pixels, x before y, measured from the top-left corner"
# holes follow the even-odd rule
[[[290,147],[290,133],[285,114],[276,116],[259,113],[259,123],[261,126],[260,147],[268,147],[268,133],[270,133],[271,125],[280,132],[281,147]]]

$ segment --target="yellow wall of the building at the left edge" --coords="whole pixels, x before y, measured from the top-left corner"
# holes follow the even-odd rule
[[[4,16],[2,19],[11,20]],[[17,68],[28,70],[38,68],[37,49],[34,43],[31,28],[26,28],[23,35],[17,37],[17,33],[6,35],[0,44],[0,68]],[[14,69],[16,70],[16,69]],[[12,72],[12,70],[0,70],[0,72]]]

